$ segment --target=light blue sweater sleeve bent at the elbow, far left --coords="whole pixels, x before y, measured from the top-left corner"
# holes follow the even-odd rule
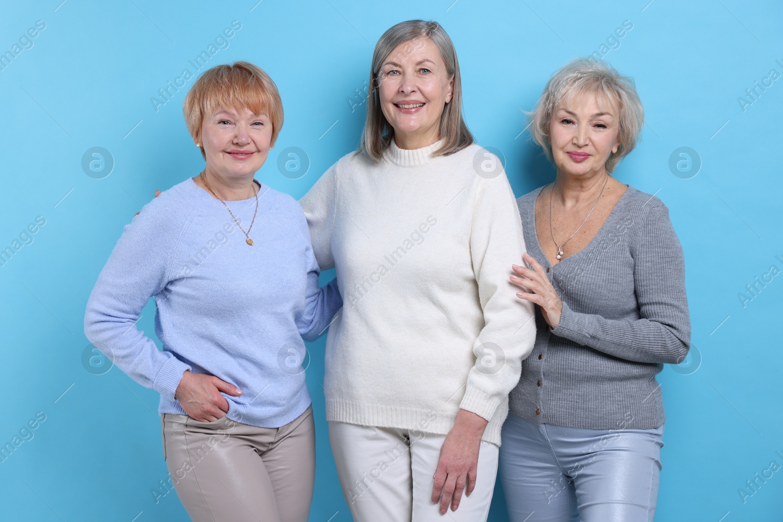
[[[190,366],[169,351],[159,351],[136,328],[150,297],[164,295],[168,260],[182,232],[176,221],[161,217],[161,207],[171,202],[153,203],[125,225],[100,272],[87,303],[85,335],[133,380],[173,401],[182,373]]]

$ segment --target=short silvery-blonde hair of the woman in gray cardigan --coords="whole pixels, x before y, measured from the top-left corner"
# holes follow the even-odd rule
[[[561,103],[579,99],[584,94],[597,95],[598,103],[609,103],[618,112],[619,147],[606,160],[606,170],[612,172],[637,144],[644,126],[644,107],[633,79],[622,76],[608,63],[594,58],[579,58],[558,69],[547,81],[536,106],[528,113],[532,139],[552,161],[552,146],[549,142],[552,113]]]

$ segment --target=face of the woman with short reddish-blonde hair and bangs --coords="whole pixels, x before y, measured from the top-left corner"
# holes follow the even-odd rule
[[[250,109],[218,108],[204,117],[201,146],[207,156],[207,171],[226,182],[253,178],[269,155],[272,125],[266,114]]]

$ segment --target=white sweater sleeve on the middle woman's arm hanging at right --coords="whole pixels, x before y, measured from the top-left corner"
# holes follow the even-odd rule
[[[478,182],[471,225],[471,259],[484,327],[475,340],[475,363],[460,409],[492,419],[516,386],[521,361],[536,340],[534,308],[516,297],[509,276],[525,252],[522,225],[505,173]]]

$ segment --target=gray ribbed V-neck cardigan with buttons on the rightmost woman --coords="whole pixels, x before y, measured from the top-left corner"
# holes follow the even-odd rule
[[[655,375],[682,362],[691,342],[683,252],[666,205],[629,187],[594,239],[552,266],[536,236],[540,191],[517,204],[528,254],[548,270],[563,312],[550,329],[536,307],[536,344],[511,413],[592,430],[659,427]]]

